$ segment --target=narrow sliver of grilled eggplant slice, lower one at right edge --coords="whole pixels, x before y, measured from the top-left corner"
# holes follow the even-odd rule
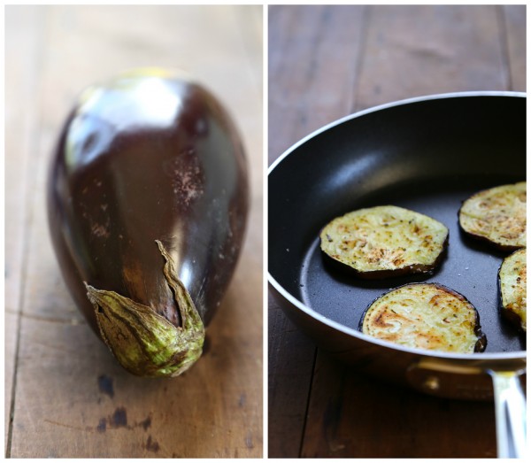
[[[514,251],[500,266],[498,279],[502,313],[508,320],[527,331],[527,251]]]

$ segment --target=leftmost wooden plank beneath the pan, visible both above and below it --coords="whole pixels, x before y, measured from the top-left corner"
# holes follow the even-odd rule
[[[365,8],[269,8],[269,162],[349,111]],[[338,47],[337,44],[342,46]],[[299,456],[315,346],[269,298],[268,456]]]

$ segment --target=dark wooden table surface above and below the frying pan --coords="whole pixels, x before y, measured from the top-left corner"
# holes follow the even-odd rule
[[[269,163],[364,108],[526,89],[525,6],[271,6]],[[269,457],[495,457],[492,403],[379,382],[327,357],[269,301]]]

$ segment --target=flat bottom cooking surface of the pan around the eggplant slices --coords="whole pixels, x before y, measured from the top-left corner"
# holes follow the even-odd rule
[[[505,179],[504,179],[505,180]],[[504,181],[500,181],[502,184]],[[300,273],[300,297],[305,305],[343,326],[358,329],[359,320],[376,297],[408,282],[439,282],[463,294],[480,313],[481,328],[487,336],[487,352],[523,351],[525,336],[499,313],[497,272],[507,253],[477,243],[458,227],[461,202],[478,189],[498,182],[467,181],[467,189],[455,189],[411,183],[381,189],[370,197],[358,198],[350,210],[378,204],[394,204],[425,213],[442,221],[450,229],[450,243],[445,258],[434,274],[412,274],[383,280],[362,280],[331,268],[319,247],[319,231],[304,255]],[[392,203],[389,198],[393,198]],[[344,212],[350,212],[345,210]],[[330,219],[333,219],[331,217]],[[323,226],[326,225],[323,223]],[[478,354],[481,355],[481,354]]]

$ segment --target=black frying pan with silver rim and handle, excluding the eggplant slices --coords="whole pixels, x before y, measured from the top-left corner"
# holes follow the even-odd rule
[[[462,202],[526,178],[526,97],[514,92],[422,96],[337,120],[287,150],[268,172],[269,283],[296,326],[335,357],[440,397],[492,399],[499,457],[526,449],[526,339],[500,316],[507,252],[458,227]],[[319,231],[346,212],[394,204],[450,229],[433,274],[362,280],[327,265]],[[477,308],[482,353],[410,349],[358,330],[367,305],[407,282],[439,282]]]

